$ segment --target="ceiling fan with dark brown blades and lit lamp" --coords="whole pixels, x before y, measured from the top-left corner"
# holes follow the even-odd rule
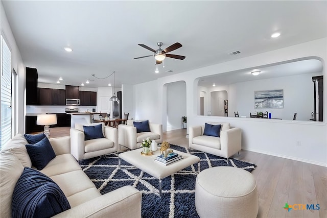
[[[150,50],[151,52],[154,53],[153,56],[154,56],[154,58],[156,60],[156,64],[161,64],[162,61],[166,57],[175,58],[175,59],[179,59],[179,60],[184,60],[185,59],[185,56],[167,54],[167,53],[169,53],[171,51],[179,49],[182,46],[181,43],[179,43],[179,42],[176,42],[176,43],[172,44],[171,46],[167,47],[164,50],[161,49],[162,42],[157,42],[157,45],[159,46],[159,49],[157,49],[157,50],[151,49],[151,47],[149,47],[149,46],[147,46],[145,44],[138,44],[138,45],[142,46],[145,49]],[[134,59],[146,58],[146,57],[151,57],[151,56],[152,55],[147,55],[147,56],[142,56],[142,57],[138,57],[138,58],[134,58]]]

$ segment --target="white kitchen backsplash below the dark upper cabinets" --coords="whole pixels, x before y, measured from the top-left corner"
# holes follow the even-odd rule
[[[68,105],[27,105],[26,106],[26,113],[65,113],[66,108],[78,108],[79,112],[90,111],[95,108],[97,111],[96,106],[68,106]]]

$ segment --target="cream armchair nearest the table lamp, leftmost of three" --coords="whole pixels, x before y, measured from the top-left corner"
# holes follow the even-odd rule
[[[94,123],[84,126],[95,125],[102,125],[104,138],[85,141],[83,125],[75,124],[75,129],[71,128],[71,154],[76,160],[98,157],[118,150],[118,130],[104,126],[104,123]]]

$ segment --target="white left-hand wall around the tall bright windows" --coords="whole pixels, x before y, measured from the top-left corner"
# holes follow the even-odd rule
[[[13,36],[11,28],[9,26],[6,12],[4,10],[2,2],[0,2],[0,29],[1,34],[4,36],[11,51],[11,67],[17,72],[18,75],[18,117],[14,117],[14,119],[16,119],[16,125],[18,128],[13,132],[13,135],[15,135],[16,133],[24,133],[25,131],[25,65],[21,59],[21,55],[18,50],[15,37]]]

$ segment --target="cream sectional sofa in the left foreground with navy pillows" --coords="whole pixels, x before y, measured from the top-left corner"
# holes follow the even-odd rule
[[[54,180],[66,196],[71,209],[55,217],[141,217],[141,192],[124,186],[101,195],[70,154],[70,137],[50,139],[56,154],[40,172]],[[0,217],[11,217],[12,193],[24,167],[32,167],[21,134],[0,152]]]

